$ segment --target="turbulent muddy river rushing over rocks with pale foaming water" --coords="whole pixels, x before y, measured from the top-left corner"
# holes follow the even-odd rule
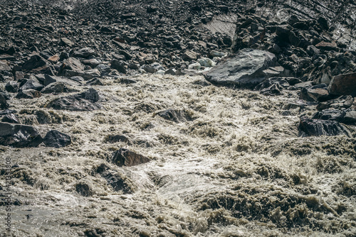
[[[4,158],[14,165],[11,232],[2,236],[356,235],[355,134],[300,137],[299,116],[315,106],[298,91],[268,97],[201,76],[125,79],[93,86],[103,104],[95,111],[46,109],[53,95],[11,100],[23,123],[72,144],[0,147],[1,169]],[[186,117],[166,120],[164,109]],[[115,135],[127,139],[110,142]],[[119,148],[150,162],[117,167],[108,157]],[[98,174],[103,165],[125,189]]]

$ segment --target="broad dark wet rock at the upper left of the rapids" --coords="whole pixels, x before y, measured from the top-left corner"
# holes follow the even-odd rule
[[[100,109],[98,92],[90,88],[86,92],[54,99],[46,105],[46,108],[64,109],[70,111],[93,111]]]

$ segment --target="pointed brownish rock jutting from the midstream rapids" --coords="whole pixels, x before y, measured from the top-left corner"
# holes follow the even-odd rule
[[[122,167],[140,165],[149,162],[150,158],[137,154],[131,150],[120,148],[119,150],[112,153],[111,161],[115,165]]]

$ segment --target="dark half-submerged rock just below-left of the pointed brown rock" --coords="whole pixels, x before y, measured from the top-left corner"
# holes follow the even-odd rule
[[[122,191],[124,194],[132,193],[132,189],[130,185],[127,184],[126,180],[120,173],[115,172],[114,170],[110,170],[105,164],[101,164],[96,172],[101,175],[101,177],[107,180],[108,184],[114,189],[114,191]]]

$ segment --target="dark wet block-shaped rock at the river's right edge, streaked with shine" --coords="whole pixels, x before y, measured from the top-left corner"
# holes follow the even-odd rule
[[[349,136],[345,126],[337,121],[312,119],[301,117],[299,123],[300,136],[337,136],[345,134]]]

